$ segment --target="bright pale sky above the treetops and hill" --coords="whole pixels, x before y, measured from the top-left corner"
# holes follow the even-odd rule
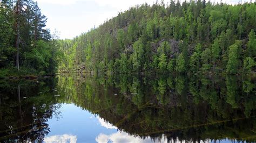
[[[170,0],[164,1],[170,2]],[[220,0],[215,0],[218,1]],[[223,2],[225,1],[230,4],[239,2],[239,0]],[[156,0],[37,0],[37,2],[43,15],[48,18],[46,28],[50,28],[51,32],[57,30],[60,39],[72,39],[117,16],[120,11],[143,3],[152,5]]]

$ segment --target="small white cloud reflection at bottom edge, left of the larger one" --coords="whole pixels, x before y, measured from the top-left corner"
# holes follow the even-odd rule
[[[69,135],[69,134],[63,134],[63,135],[53,135],[50,137],[46,137],[44,139],[44,142],[77,142],[77,136],[76,135]]]

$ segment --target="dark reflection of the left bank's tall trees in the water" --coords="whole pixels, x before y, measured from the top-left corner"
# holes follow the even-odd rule
[[[0,81],[0,141],[42,142],[46,121],[58,113],[53,81]]]

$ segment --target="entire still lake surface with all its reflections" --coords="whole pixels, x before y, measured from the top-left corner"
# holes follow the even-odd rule
[[[255,142],[256,79],[58,75],[0,81],[0,142]]]

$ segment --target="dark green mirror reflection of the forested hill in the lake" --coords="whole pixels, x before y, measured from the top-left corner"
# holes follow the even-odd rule
[[[59,76],[62,102],[139,137],[256,140],[255,79],[237,76]]]

